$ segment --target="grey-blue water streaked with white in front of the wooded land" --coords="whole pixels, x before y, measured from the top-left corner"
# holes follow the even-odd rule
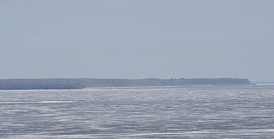
[[[0,138],[274,138],[274,86],[2,90]]]

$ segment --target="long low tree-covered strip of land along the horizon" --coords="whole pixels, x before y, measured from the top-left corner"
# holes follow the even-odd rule
[[[0,79],[0,89],[84,89],[184,85],[251,85],[247,78],[27,78]]]

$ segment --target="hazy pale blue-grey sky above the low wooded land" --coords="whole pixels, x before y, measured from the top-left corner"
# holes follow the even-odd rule
[[[0,78],[274,81],[274,1],[0,1]]]

